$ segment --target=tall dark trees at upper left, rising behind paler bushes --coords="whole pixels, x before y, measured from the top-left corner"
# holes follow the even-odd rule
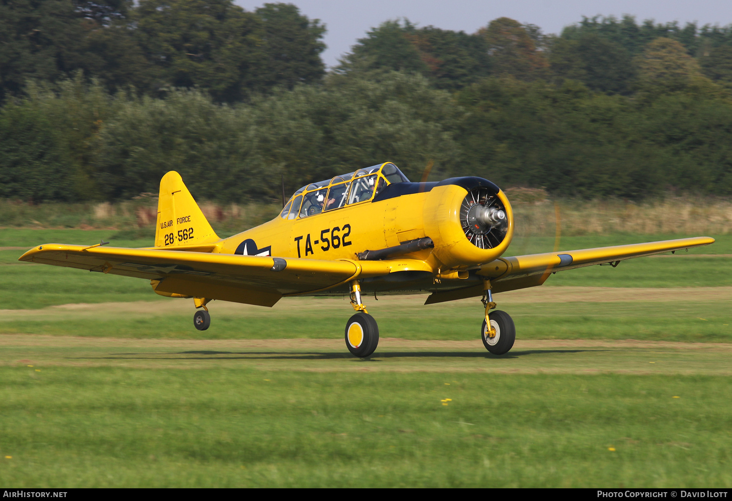
[[[110,92],[206,89],[234,103],[320,80],[325,28],[291,4],[231,0],[0,0],[0,100],[81,71]]]

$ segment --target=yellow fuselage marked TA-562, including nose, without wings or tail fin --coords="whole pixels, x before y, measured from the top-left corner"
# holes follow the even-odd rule
[[[332,190],[333,185],[330,186]],[[300,196],[307,197],[307,190],[301,191],[298,192]],[[288,207],[297,200],[298,193],[291,198]],[[323,198],[325,204],[328,198]],[[491,200],[505,211],[500,234],[491,237],[490,229],[488,234],[472,234],[466,229],[470,207],[487,206]],[[432,290],[442,289],[435,285],[449,282],[451,278],[463,281],[468,278],[471,267],[497,259],[508,247],[513,233],[511,206],[505,194],[493,183],[477,177],[392,183],[366,200],[305,217],[300,217],[305,212],[286,209],[282,215],[261,226],[223,240],[220,252],[357,261],[357,255],[364,251],[396,248],[428,237],[433,247],[398,256],[401,263],[407,261],[410,265],[401,270],[411,272],[411,275],[403,274],[404,281],[419,284],[397,286],[393,282],[398,275],[392,273],[391,284],[376,284],[372,288]],[[293,211],[296,211],[294,218]],[[474,231],[481,231],[479,224],[475,227]]]

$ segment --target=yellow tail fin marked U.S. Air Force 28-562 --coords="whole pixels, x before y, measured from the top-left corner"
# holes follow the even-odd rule
[[[160,196],[157,199],[155,247],[176,248],[183,245],[195,248],[218,240],[206,216],[183,184],[180,174],[176,171],[165,174],[160,179]],[[213,246],[209,247],[210,252]]]

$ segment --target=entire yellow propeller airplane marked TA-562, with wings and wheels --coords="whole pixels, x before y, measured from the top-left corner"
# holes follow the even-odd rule
[[[714,242],[694,237],[501,257],[513,231],[511,204],[493,182],[409,182],[386,162],[303,186],[275,219],[221,239],[171,171],[160,181],[154,247],[51,243],[20,261],[145,278],[157,294],[192,297],[198,330],[211,323],[211,300],[272,306],[283,296],[349,294],[356,313],[345,340],[356,357],[378,344],[363,294],[430,292],[425,304],[482,297],[483,344],[503,355],[516,331],[508,313],[491,311],[493,294],[542,285],[557,271]]]

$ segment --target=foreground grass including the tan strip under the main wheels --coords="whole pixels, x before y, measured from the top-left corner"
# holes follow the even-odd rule
[[[730,344],[0,346],[4,486],[732,484]]]

